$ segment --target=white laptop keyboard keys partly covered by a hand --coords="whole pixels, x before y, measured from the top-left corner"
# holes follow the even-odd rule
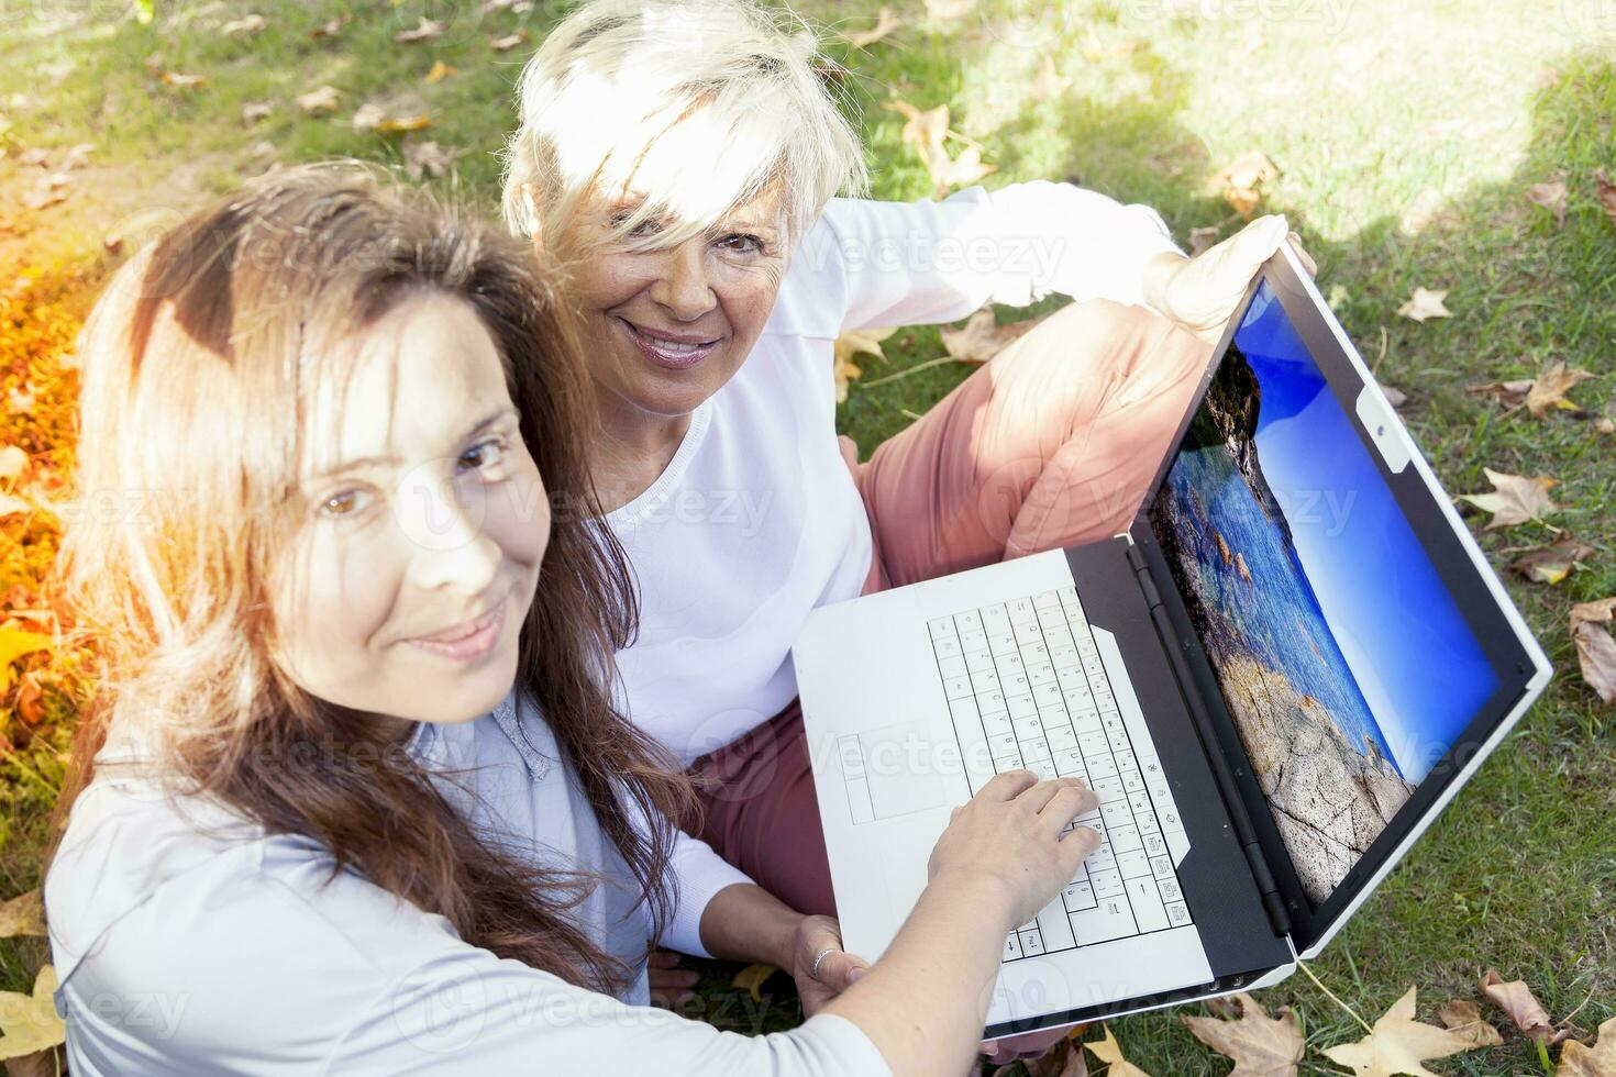
[[[1191,924],[1170,843],[1186,835],[1155,744],[1130,731],[1076,588],[1042,591],[928,623],[955,736],[987,736],[994,773],[1083,778],[1100,833],[1062,895],[1005,938],[1005,961]],[[966,769],[974,794],[986,777]],[[1070,830],[1070,827],[1068,827]]]

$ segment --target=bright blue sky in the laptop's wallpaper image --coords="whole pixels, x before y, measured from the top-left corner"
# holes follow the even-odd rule
[[[1420,782],[1498,678],[1267,283],[1235,341],[1262,384],[1257,457],[1296,555],[1398,769]]]

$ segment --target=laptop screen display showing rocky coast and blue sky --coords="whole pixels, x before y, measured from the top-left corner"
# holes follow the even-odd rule
[[[1500,680],[1267,281],[1149,522],[1317,909]]]

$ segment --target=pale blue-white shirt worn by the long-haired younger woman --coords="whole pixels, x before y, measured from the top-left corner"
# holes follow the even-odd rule
[[[819,1014],[743,1037],[651,1009],[646,916],[632,875],[516,698],[465,725],[422,723],[409,751],[490,835],[556,867],[608,878],[577,907],[638,967],[622,998],[572,987],[459,938],[451,924],[296,835],[267,835],[221,804],[165,798],[126,773],[133,736],[108,738],[45,882],[57,1012],[79,1077],[141,1074],[779,1074],[889,1072],[852,1022]],[[454,769],[461,785],[436,772]],[[470,769],[470,770],[465,770]],[[701,953],[701,907],[745,877],[682,840],[671,937]],[[727,880],[727,882],[726,882]],[[680,880],[682,882],[682,880]]]

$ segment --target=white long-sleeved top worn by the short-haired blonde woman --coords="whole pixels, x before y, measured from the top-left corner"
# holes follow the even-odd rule
[[[685,762],[797,696],[810,610],[856,597],[869,522],[835,439],[832,346],[850,329],[955,321],[1049,292],[1141,302],[1162,218],[1063,182],[944,202],[832,199],[758,344],[690,418],[672,462],[609,513],[642,591],[622,706]]]

